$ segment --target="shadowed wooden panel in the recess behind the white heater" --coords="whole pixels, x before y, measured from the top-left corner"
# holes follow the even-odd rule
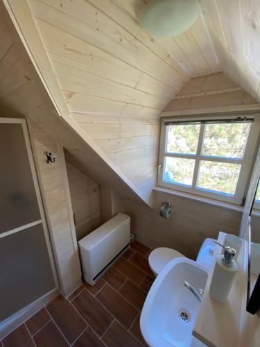
[[[100,187],[70,162],[66,161],[66,167],[76,235],[80,240],[101,225]]]

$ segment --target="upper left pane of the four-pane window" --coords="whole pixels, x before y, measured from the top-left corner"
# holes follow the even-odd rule
[[[168,126],[168,153],[196,154],[200,124]]]

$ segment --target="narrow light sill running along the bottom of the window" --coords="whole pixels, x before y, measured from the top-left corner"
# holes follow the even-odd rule
[[[153,188],[156,192],[163,192],[171,194],[174,196],[181,196],[182,198],[190,198],[191,200],[200,201],[200,203],[207,203],[209,205],[218,206],[220,208],[226,208],[227,210],[232,210],[236,212],[243,212],[244,208],[241,205],[234,205],[233,203],[226,203],[225,201],[218,201],[213,198],[205,198],[204,196],[193,195],[190,193],[180,192],[174,189],[169,189],[166,187],[161,187],[159,185]]]

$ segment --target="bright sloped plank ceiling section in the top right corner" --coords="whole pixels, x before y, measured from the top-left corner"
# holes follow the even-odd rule
[[[260,102],[260,1],[199,1],[221,69]]]

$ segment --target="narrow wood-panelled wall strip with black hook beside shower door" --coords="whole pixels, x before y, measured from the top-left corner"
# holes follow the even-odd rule
[[[73,221],[71,221],[70,205],[67,200],[67,182],[64,181],[64,154],[57,140],[31,119],[27,121],[55,264],[58,269],[60,291],[67,297],[80,285],[81,271],[76,238],[73,238],[75,230],[71,226]],[[54,163],[46,163],[44,155],[46,151],[53,153]]]

